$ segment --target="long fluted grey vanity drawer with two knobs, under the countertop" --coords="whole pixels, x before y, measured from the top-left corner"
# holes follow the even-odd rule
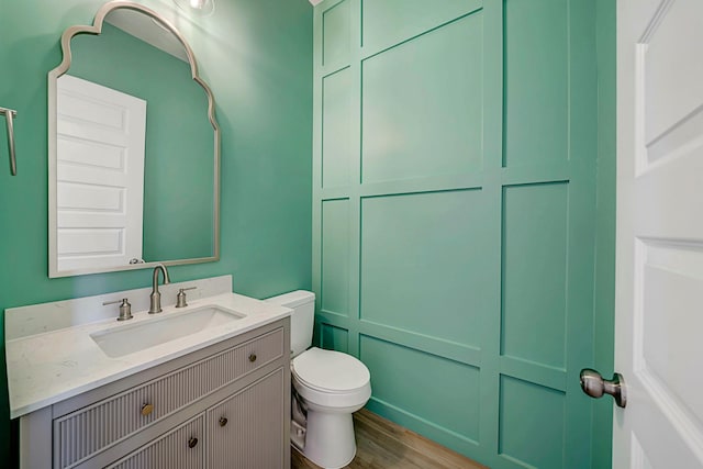
[[[72,467],[203,395],[279,359],[283,356],[283,328],[277,328],[55,418],[55,467]]]

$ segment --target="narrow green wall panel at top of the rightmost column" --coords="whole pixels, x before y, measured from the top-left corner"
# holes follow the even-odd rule
[[[504,166],[568,157],[567,0],[505,0]]]

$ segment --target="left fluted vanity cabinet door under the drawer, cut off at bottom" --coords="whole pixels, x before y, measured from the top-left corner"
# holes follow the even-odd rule
[[[204,414],[109,466],[110,469],[202,469]]]

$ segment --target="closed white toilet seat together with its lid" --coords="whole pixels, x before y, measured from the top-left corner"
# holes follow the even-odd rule
[[[371,395],[368,368],[341,351],[312,347],[293,358],[291,375],[298,393],[319,405],[355,406]]]

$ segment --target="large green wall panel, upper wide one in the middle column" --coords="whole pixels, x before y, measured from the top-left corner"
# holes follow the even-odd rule
[[[482,51],[477,12],[362,63],[362,182],[481,169]]]

